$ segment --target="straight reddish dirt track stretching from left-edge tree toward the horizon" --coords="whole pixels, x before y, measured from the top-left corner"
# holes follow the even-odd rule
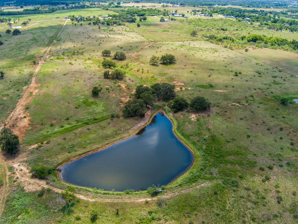
[[[66,24],[66,22],[67,22],[67,20],[63,20],[63,23],[61,24],[60,30],[59,30],[56,38],[60,35],[64,25]],[[34,25],[34,24],[32,24],[32,25]],[[16,135],[19,136],[20,140],[24,137],[26,129],[29,128],[29,122],[30,122],[30,117],[29,117],[29,114],[26,113],[25,106],[33,100],[35,94],[38,92],[38,89],[36,89],[36,87],[38,87],[39,84],[36,83],[36,74],[40,70],[41,65],[44,64],[44,59],[48,55],[48,53],[51,50],[54,43],[55,43],[55,40],[53,40],[51,45],[49,45],[48,47],[46,47],[44,49],[44,51],[46,51],[46,52],[44,53],[44,56],[40,59],[40,61],[38,62],[38,65],[35,68],[35,72],[32,76],[32,80],[31,80],[31,84],[28,86],[28,88],[25,91],[22,98],[18,101],[15,109],[8,116],[8,118],[6,120],[7,127],[9,125],[11,125],[11,126],[17,125],[17,126],[11,128],[11,129],[13,130],[13,132]],[[24,116],[26,116],[26,118],[24,118]],[[20,118],[24,118],[24,119],[19,120]]]

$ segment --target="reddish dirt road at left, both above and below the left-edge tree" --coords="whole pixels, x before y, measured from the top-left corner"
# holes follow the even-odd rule
[[[55,38],[57,38],[64,25],[66,24],[66,22],[68,21],[68,19],[63,20],[63,23],[61,24],[60,30],[57,34],[57,36]],[[29,87],[27,88],[27,90],[25,91],[24,95],[22,96],[22,98],[18,101],[15,109],[13,110],[12,113],[10,113],[10,115],[8,116],[7,120],[6,120],[6,126],[8,127],[9,125],[12,125],[13,122],[15,120],[17,120],[22,114],[25,114],[25,105],[27,105],[29,102],[31,102],[31,100],[33,99],[33,97],[30,97],[30,94],[32,93],[33,95],[35,95],[35,93],[37,92],[37,90],[35,90],[35,87],[38,86],[35,82],[35,77],[37,72],[39,71],[39,69],[41,68],[41,65],[44,63],[44,59],[46,58],[47,54],[49,53],[51,47],[53,46],[53,44],[55,43],[55,40],[53,40],[52,44],[49,45],[48,47],[45,47],[44,51],[46,51],[44,53],[44,56],[41,58],[41,60],[39,61],[38,65],[35,68],[35,72],[33,74],[32,80],[31,80],[31,84],[29,85]],[[27,119],[27,122],[29,123],[29,119]],[[26,129],[27,125],[20,125],[18,127],[14,127],[12,128],[13,132],[18,134],[18,136],[20,137],[20,139],[22,138],[22,134],[25,132],[24,129]],[[2,154],[0,154],[0,164],[2,165],[2,175],[3,175],[3,186],[0,187],[0,216],[1,213],[3,211],[4,208],[4,199],[6,197],[6,195],[8,194],[8,169],[7,169],[7,162],[5,161],[5,158]]]

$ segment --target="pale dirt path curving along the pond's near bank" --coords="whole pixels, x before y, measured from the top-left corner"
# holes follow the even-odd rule
[[[54,188],[52,186],[47,185],[44,180],[31,178],[31,174],[29,173],[27,168],[24,167],[24,165],[22,165],[20,163],[13,164],[13,167],[15,168],[15,174],[18,177],[18,181],[21,182],[21,185],[24,187],[24,189],[26,191],[38,191],[41,188],[51,188],[53,191],[55,191],[57,193],[60,193],[62,191],[61,189]],[[195,189],[206,186],[208,184],[209,183],[207,182],[207,183],[203,183],[203,184],[200,184],[200,185],[197,185],[197,186],[194,186],[191,188],[187,188],[187,189],[181,189],[181,190],[178,189],[176,191],[166,192],[165,194],[162,194],[157,197],[131,198],[132,195],[128,195],[127,197],[125,195],[123,195],[123,196],[120,196],[123,198],[92,198],[92,197],[84,196],[81,194],[75,194],[75,196],[77,198],[87,200],[90,202],[94,202],[94,201],[98,201],[98,202],[145,202],[146,200],[148,200],[148,201],[157,200],[160,197],[168,198],[168,197],[176,196],[178,194],[186,194],[186,193],[189,193]],[[114,196],[117,197],[119,195],[114,195]]]

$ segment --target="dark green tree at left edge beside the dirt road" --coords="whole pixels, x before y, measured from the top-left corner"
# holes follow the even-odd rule
[[[2,128],[0,131],[0,147],[2,151],[10,154],[18,152],[20,142],[18,136],[13,134],[9,128]]]

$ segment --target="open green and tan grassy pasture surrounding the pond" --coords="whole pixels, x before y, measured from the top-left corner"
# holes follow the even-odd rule
[[[153,3],[134,3],[142,4]],[[37,66],[32,60],[45,56],[46,47],[55,40],[36,74],[36,91],[25,106],[26,116],[14,121],[26,123],[25,129],[12,128],[23,131],[20,151],[15,159],[3,153],[0,160],[0,195],[4,198],[3,190],[8,194],[1,199],[0,223],[91,223],[92,211],[97,213],[95,223],[298,223],[298,104],[285,106],[276,100],[298,94],[297,53],[267,48],[244,52],[237,45],[231,50],[202,37],[265,34],[298,39],[298,34],[216,15],[171,22],[148,16],[145,22],[136,21],[140,27],[126,23],[99,29],[88,22],[75,26],[70,21],[61,27],[69,14],[108,13],[80,9],[20,16],[21,21],[31,18],[29,25],[34,25],[22,28],[18,36],[5,34],[6,27],[0,25],[4,42],[0,70],[5,72],[0,79],[2,123],[30,84]],[[194,29],[197,37],[190,36]],[[125,79],[103,78],[107,69],[101,66],[101,52],[105,49],[112,53],[108,59],[117,51],[125,53],[125,60],[113,60],[125,71]],[[177,62],[149,64],[152,55],[165,53],[173,54]],[[136,86],[159,82],[174,84],[177,95],[188,102],[195,96],[206,97],[211,109],[173,113],[170,101],[156,101],[145,118],[122,116]],[[103,88],[97,97],[91,96],[94,86]],[[28,173],[34,164],[55,168],[130,136],[160,107],[172,119],[176,134],[194,151],[195,162],[157,197],[146,191],[125,194],[74,187],[55,174],[38,180]],[[57,201],[65,189],[76,192],[69,211]],[[163,207],[158,203],[161,199]]]

